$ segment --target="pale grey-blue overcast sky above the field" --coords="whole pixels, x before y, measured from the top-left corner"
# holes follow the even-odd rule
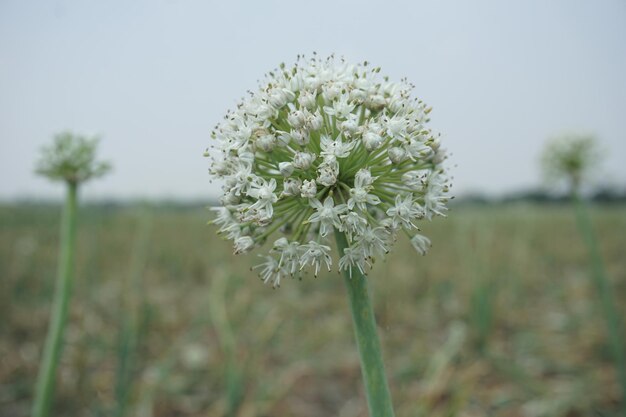
[[[33,174],[64,129],[102,136],[92,198],[215,195],[202,152],[256,80],[335,52],[407,76],[434,107],[457,194],[540,183],[563,130],[595,133],[626,183],[626,2],[0,0],[0,199],[53,197]]]

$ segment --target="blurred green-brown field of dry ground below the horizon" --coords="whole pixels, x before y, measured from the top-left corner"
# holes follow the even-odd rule
[[[0,415],[29,414],[60,212],[0,207]],[[626,210],[593,207],[626,316]],[[367,416],[342,279],[273,290],[203,208],[84,207],[55,416]],[[455,207],[370,273],[396,415],[612,416],[571,207]],[[624,405],[621,404],[621,407]]]

